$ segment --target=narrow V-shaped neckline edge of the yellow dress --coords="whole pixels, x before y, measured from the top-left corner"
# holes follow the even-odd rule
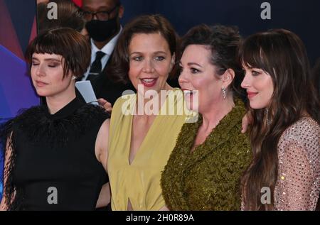
[[[171,91],[174,91],[174,89],[172,89]],[[154,118],[154,121],[152,122],[151,126],[149,127],[149,130],[146,131],[146,136],[144,136],[144,140],[142,140],[142,143],[140,144],[137,153],[134,155],[134,158],[132,159],[131,163],[130,163],[130,153],[131,153],[131,146],[132,146],[132,128],[133,128],[133,118],[134,115],[130,115],[130,127],[129,127],[129,147],[127,150],[127,163],[129,166],[132,166],[134,164],[134,162],[136,161],[137,157],[139,156],[139,154],[141,154],[140,152],[143,151],[143,147],[146,143],[146,139],[149,138],[149,136],[151,135],[151,131],[154,129],[154,126],[156,124],[156,122],[159,120],[159,116],[160,116],[160,112],[162,107],[167,104],[167,99],[168,99],[168,94],[166,95],[166,99],[164,100],[164,103],[161,104],[161,106],[159,107],[159,111],[158,111],[158,115],[156,115],[156,117]],[[134,101],[137,101],[137,94],[134,97]],[[134,112],[136,110],[136,104],[134,104]]]

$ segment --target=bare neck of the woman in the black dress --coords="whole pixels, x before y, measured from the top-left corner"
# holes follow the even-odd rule
[[[67,90],[67,93],[46,97],[47,106],[50,114],[55,114],[57,111],[66,106],[70,101],[75,99],[75,88]]]

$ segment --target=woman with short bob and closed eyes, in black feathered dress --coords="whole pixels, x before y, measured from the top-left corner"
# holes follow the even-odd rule
[[[26,60],[47,105],[26,109],[1,129],[5,149],[2,210],[93,210],[105,172],[109,114],[75,95],[90,45],[70,28],[38,35]]]

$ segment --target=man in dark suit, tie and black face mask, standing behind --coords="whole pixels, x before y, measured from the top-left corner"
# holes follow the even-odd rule
[[[134,90],[131,84],[113,82],[105,72],[122,31],[120,18],[124,6],[119,0],[83,0],[82,13],[87,22],[85,27],[90,35],[92,54],[91,65],[81,80],[90,80],[99,103],[110,103],[111,106],[125,90]]]

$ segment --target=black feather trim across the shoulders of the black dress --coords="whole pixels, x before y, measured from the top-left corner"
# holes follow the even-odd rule
[[[16,133],[22,131],[31,143],[46,140],[50,146],[65,146],[68,136],[81,136],[95,123],[110,118],[100,106],[85,104],[74,113],[62,119],[47,116],[46,106],[35,106],[19,111],[16,118],[0,125],[0,148],[9,163],[4,167],[4,197],[7,210],[23,210],[23,190],[16,187],[13,180],[13,171],[16,163]],[[71,130],[74,133],[68,133]],[[6,146],[8,148],[6,148]]]

